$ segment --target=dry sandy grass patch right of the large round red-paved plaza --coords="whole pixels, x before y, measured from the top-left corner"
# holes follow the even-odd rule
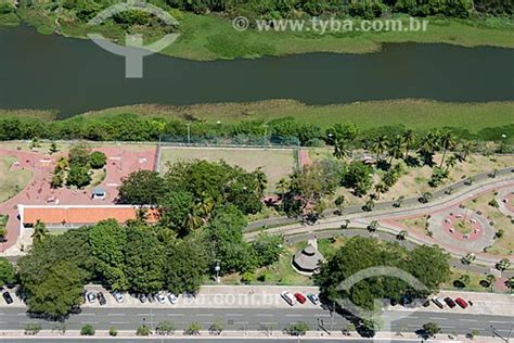
[[[504,216],[498,208],[488,204],[492,199],[494,199],[494,194],[487,193],[468,201],[466,206],[474,211],[481,211],[484,216],[494,221],[497,230],[502,229],[504,232],[487,252],[498,255],[514,255],[514,226],[511,219]]]

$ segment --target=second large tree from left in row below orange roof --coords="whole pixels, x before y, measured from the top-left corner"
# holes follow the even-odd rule
[[[116,220],[100,221],[89,230],[91,253],[95,257],[99,279],[113,291],[126,291],[129,281],[125,276],[127,232]]]

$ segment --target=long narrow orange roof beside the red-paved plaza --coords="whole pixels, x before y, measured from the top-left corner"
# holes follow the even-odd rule
[[[20,205],[22,224],[35,224],[38,219],[44,224],[97,224],[105,219],[116,219],[125,224],[136,219],[139,207],[134,206],[23,206]],[[146,208],[147,223],[156,223],[157,211]]]

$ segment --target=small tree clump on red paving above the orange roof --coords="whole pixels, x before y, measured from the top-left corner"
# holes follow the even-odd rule
[[[91,182],[91,169],[101,169],[107,157],[103,152],[90,152],[87,145],[76,144],[69,149],[68,158],[61,157],[53,170],[51,185],[53,188],[76,186],[78,188]]]

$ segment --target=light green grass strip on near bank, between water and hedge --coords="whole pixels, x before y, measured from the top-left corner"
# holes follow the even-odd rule
[[[413,129],[460,127],[476,132],[486,127],[514,123],[514,102],[449,103],[429,100],[367,101],[351,104],[306,105],[294,100],[269,100],[250,103],[217,103],[190,106],[130,105],[89,112],[87,116],[139,114],[184,118],[208,123],[272,120],[293,116],[306,124],[329,128],[335,123],[354,123],[368,129],[404,125]],[[314,120],[314,122],[313,122]]]

